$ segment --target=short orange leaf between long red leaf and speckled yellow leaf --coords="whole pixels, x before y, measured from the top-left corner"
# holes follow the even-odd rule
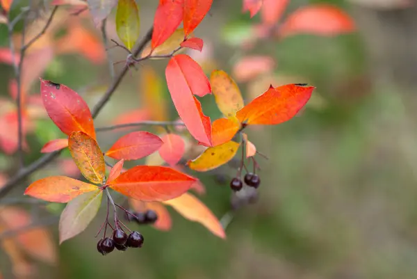
[[[234,118],[220,118],[211,125],[211,143],[213,146],[231,141],[240,129],[240,123]]]

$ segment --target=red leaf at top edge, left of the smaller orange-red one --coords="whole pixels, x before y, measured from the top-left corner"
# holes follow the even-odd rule
[[[161,45],[177,29],[183,19],[183,0],[160,1],[154,18],[152,49]]]

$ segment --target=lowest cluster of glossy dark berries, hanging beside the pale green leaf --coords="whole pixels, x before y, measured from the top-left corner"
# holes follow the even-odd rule
[[[113,231],[113,237],[106,237],[97,242],[97,250],[101,255],[106,255],[113,252],[115,248],[120,251],[125,251],[128,247],[140,248],[143,240],[143,236],[139,232],[133,231],[127,235],[126,232],[118,228]]]

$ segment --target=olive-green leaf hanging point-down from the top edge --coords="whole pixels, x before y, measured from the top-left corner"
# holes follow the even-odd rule
[[[132,50],[139,37],[139,9],[135,0],[119,0],[116,12],[116,31],[124,45]]]

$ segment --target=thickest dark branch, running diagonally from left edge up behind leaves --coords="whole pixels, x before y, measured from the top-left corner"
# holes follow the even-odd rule
[[[142,51],[142,49],[144,49],[147,43],[152,39],[153,30],[154,30],[153,28],[149,29],[145,37],[139,42],[138,47],[136,47],[134,51],[136,55],[140,54],[140,51]],[[111,86],[107,89],[106,93],[104,93],[104,95],[101,97],[99,102],[96,104],[96,106],[92,110],[93,118],[96,118],[99,112],[101,111],[101,109],[103,109],[106,102],[108,102],[111,95],[113,95],[113,93],[115,92],[117,86],[119,86],[120,82],[122,82],[122,79],[128,70],[129,70],[129,67],[124,67],[122,72],[120,72],[120,74],[118,74],[117,77],[114,79]],[[10,180],[8,180],[8,182],[6,182],[6,184],[3,185],[3,188],[0,189],[0,198],[5,196],[13,188],[13,186],[17,184],[17,182],[23,180],[25,177],[27,177],[31,173],[34,173],[39,168],[42,168],[43,166],[48,164],[50,161],[58,157],[58,155],[62,151],[63,150],[58,150],[56,152],[46,154],[43,157],[40,157],[40,159],[34,161],[32,164],[30,164],[26,168],[21,168],[19,172],[13,177],[11,177]]]

